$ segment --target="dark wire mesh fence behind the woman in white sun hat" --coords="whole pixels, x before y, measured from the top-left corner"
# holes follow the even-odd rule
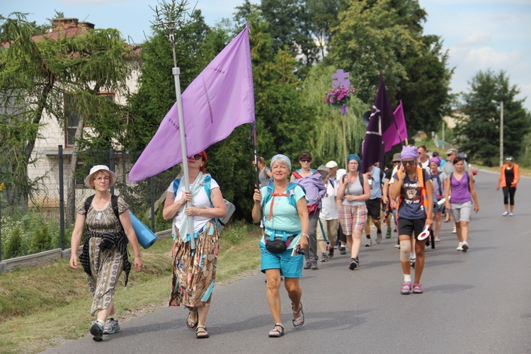
[[[84,178],[96,164],[107,165],[115,171],[117,181],[111,193],[120,195],[144,224],[154,232],[169,229],[171,222],[161,217],[160,206],[180,168],[176,166],[133,185],[129,183],[127,174],[139,154],[113,149],[79,152],[74,187],[69,190],[65,190],[65,181],[71,178],[67,171],[70,171],[72,152],[63,151],[59,145],[57,151],[35,154],[35,159],[28,165],[28,192],[15,191],[16,183],[9,182],[4,183],[0,191],[0,261],[50,249],[69,248],[75,208],[93,194],[93,190],[84,185]],[[4,169],[4,179],[11,181],[13,178],[8,178],[6,171],[10,169]],[[69,192],[75,196],[71,205],[67,202]]]

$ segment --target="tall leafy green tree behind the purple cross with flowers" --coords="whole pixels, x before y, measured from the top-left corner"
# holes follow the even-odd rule
[[[357,96],[369,106],[382,72],[392,105],[404,103],[409,130],[436,130],[452,72],[439,38],[422,35],[426,11],[418,1],[351,1],[338,16],[327,63],[350,72]]]

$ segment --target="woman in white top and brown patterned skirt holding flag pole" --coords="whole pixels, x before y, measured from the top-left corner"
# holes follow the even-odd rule
[[[188,157],[190,191],[176,178],[166,193],[162,216],[173,218],[172,280],[169,305],[186,307],[186,325],[195,329],[196,338],[208,338],[206,321],[216,278],[219,233],[215,219],[227,215],[227,207],[217,182],[207,173],[207,154]],[[206,185],[210,185],[210,195]],[[190,207],[187,202],[192,202]],[[193,230],[188,230],[188,217]],[[190,247],[195,239],[195,251]]]

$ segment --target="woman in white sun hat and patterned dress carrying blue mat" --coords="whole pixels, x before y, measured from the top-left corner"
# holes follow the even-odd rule
[[[93,296],[91,314],[97,315],[90,330],[94,341],[102,341],[103,334],[120,330],[118,319],[113,317],[114,292],[122,270],[125,270],[125,285],[129,278],[131,264],[127,256],[127,242],[135,253],[135,270],[140,271],[143,266],[137,236],[127,212],[129,205],[109,192],[115,181],[115,173],[107,166],[93,166],[85,178],[85,185],[95,190],[96,194],[76,205],[76,224],[72,232],[70,266],[77,269],[77,249],[86,224],[86,239],[79,261],[87,273]],[[113,198],[117,200],[119,219],[113,208]]]

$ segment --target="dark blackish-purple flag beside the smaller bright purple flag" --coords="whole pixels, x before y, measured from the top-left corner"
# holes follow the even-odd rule
[[[385,132],[393,124],[393,110],[387,89],[385,89],[384,77],[379,76],[379,87],[376,93],[375,104],[367,125],[365,140],[363,141],[361,172],[365,173],[369,167],[380,161],[382,156],[382,132]]]

